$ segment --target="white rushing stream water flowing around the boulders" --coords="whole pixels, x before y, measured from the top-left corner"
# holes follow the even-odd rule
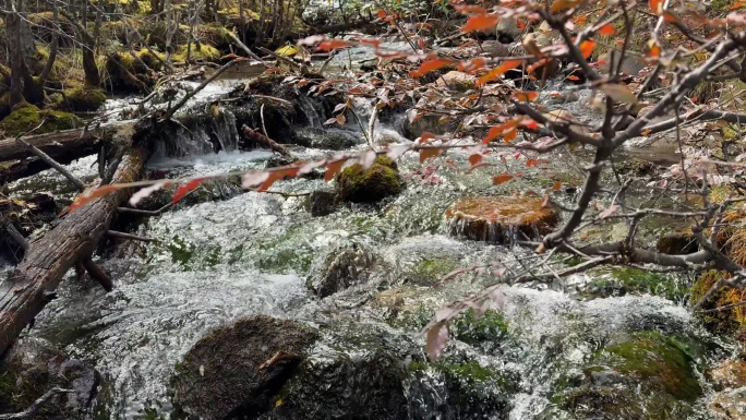
[[[340,57],[339,65],[346,59]],[[228,86],[232,84],[214,86],[205,95],[220,94]],[[562,88],[556,84],[548,92]],[[583,105],[589,92],[578,94],[577,100],[554,107],[571,110],[583,122],[598,120]],[[368,121],[370,105],[356,106]],[[107,107],[121,108],[122,103]],[[324,119],[311,116],[318,112],[304,110],[311,124],[321,128]],[[401,135],[401,118],[377,124],[377,139],[408,142]],[[263,168],[272,154],[239,152],[234,119],[221,121],[219,153],[210,153],[206,133],[182,133],[178,143],[183,147],[158,151],[148,169],[186,177]],[[365,142],[356,125],[348,122],[334,130],[357,135],[359,144],[350,151],[362,151]],[[313,159],[328,151],[294,147],[293,153]],[[169,381],[175,365],[206,332],[256,314],[321,325],[344,320],[411,344],[394,350],[414,372],[405,384],[410,418],[443,420],[602,418],[571,415],[567,406],[557,404],[557,389],[581,381],[583,370],[598,363],[595,355],[604,346],[659,334],[675,336],[688,349],[697,349],[691,355],[696,365],[702,367],[695,373],[702,392],[691,401],[688,418],[708,418],[706,407],[713,388],[703,367],[727,357],[733,345],[707,333],[686,309],[686,290],[693,280],[687,275],[655,275],[646,283],[640,273],[601,268],[564,283],[505,286],[489,311],[498,316],[500,331],[479,321],[461,322],[454,327],[454,340],[440,364],[422,367],[411,361],[424,360],[420,329],[437,308],[473,296],[494,280],[489,273],[444,284],[440,278],[455,268],[530,254],[450,236],[443,218],[445,208],[470,194],[539,191],[554,180],[579,181],[571,160],[558,157],[546,167],[527,170],[522,158],[502,163],[491,155],[486,161],[527,172],[516,182],[493,185],[494,169],[466,173],[468,156],[454,152],[449,156],[453,166],[442,165],[428,175],[417,156],[405,155],[398,165],[406,188],[381,206],[352,205],[312,217],[304,209],[304,196],[225,187],[222,192],[213,192],[219,200],[178,205],[145,218],[133,232],[158,242],[123,242],[100,261],[115,279],[116,290],[105,293],[95,281],[87,277],[77,281],[69,273],[60,284],[59,299],[40,313],[31,334],[51,340],[103,374],[92,418],[154,419],[169,418],[173,411]],[[95,157],[69,168],[83,179],[93,179]],[[292,179],[276,182],[272,190],[296,194],[325,184],[320,179]],[[17,181],[11,190],[21,194],[39,185],[57,196],[74,194],[52,171]],[[568,190],[562,200],[569,203],[576,193]],[[645,193],[639,200],[646,200]],[[654,239],[665,226],[653,223],[647,229],[643,237]],[[614,235],[614,229],[607,235]],[[370,255],[378,269],[370,273],[368,281],[336,295],[323,299],[313,295],[308,281],[323,273],[329,255],[349,249]],[[326,345],[334,347],[334,343]],[[458,386],[454,370],[444,367],[459,367]],[[455,388],[466,397],[456,399]],[[638,389],[640,399],[655,398],[646,389]]]

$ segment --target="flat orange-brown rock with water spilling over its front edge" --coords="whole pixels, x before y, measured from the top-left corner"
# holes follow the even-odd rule
[[[560,221],[558,213],[541,199],[474,196],[461,199],[445,212],[450,235],[490,243],[509,244],[525,236],[539,239]]]

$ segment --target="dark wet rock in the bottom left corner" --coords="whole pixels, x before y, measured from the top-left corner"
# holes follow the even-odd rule
[[[80,360],[70,359],[46,340],[24,338],[0,362],[0,413],[20,412],[53,387],[70,389],[44,404],[35,419],[85,418],[100,376]]]

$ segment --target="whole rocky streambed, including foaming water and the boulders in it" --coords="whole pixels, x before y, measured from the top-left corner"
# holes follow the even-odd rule
[[[557,108],[580,109],[576,99],[587,94],[566,103],[552,98]],[[370,108],[357,106],[366,120]],[[251,119],[254,108],[226,107],[210,124],[184,124],[173,139],[179,147],[166,145],[148,164],[152,175],[272,165],[270,153],[241,145],[237,125],[261,124]],[[353,122],[321,124],[330,108],[308,99],[292,109],[267,108],[276,122],[266,129],[278,141],[302,144],[292,148],[302,159],[364,149]],[[376,142],[408,142],[424,130],[400,115],[386,121],[375,128]],[[109,244],[100,265],[116,279],[110,293],[85,276],[65,277],[59,298],[0,368],[0,406],[25,409],[59,385],[75,393],[55,397],[55,409],[43,418],[744,416],[737,347],[708,333],[687,310],[689,275],[605,267],[562,281],[497,287],[483,315],[470,311],[450,324],[450,343],[431,361],[422,328],[436,310],[493,286],[492,262],[532,264],[532,252],[512,242],[563,217],[552,213],[538,228],[524,229],[501,218],[504,212],[474,225],[465,216],[473,205],[454,203],[489,204],[495,196],[528,203],[537,199],[526,191],[557,182],[553,197],[570,203],[581,180],[571,154],[528,168],[522,156],[486,156],[488,164],[524,173],[498,185],[488,165],[466,171],[468,157],[454,151],[447,163],[423,166],[405,155],[368,172],[347,168],[332,183],[320,177],[278,181],[272,193],[216,181],[172,211],[128,221],[129,230],[157,241]],[[94,161],[82,159],[72,169],[93,177]],[[10,188],[44,184],[63,197],[71,192],[59,179],[45,172]],[[640,204],[649,200],[645,191],[635,194]],[[587,235],[614,237],[623,227],[610,221]],[[658,219],[642,228],[652,244],[678,227]],[[486,268],[444,279],[480,265]]]

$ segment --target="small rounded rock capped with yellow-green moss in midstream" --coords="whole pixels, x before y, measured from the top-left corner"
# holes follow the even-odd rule
[[[368,170],[358,164],[348,166],[335,181],[339,197],[351,203],[376,203],[399,194],[404,188],[396,163],[385,156],[376,157]]]

